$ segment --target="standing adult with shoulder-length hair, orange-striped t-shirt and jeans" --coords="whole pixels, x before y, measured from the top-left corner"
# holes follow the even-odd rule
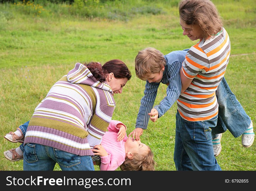
[[[175,166],[177,170],[221,170],[214,157],[211,128],[218,120],[215,92],[229,61],[229,36],[209,0],[181,1],[179,16],[183,35],[200,41],[189,49],[180,72]]]

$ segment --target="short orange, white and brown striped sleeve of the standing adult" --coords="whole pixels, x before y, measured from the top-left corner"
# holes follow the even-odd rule
[[[208,70],[209,60],[206,53],[198,47],[198,44],[192,46],[182,63],[183,74],[187,78],[193,79],[198,73],[207,72]]]

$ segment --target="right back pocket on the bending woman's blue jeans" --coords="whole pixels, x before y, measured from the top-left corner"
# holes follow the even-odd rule
[[[72,167],[80,164],[80,156],[72,153],[68,153],[59,149],[54,149],[54,155],[57,163],[63,167]]]

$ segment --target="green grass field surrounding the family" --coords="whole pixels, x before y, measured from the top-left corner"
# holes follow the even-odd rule
[[[141,4],[132,2],[138,8],[145,4],[144,1],[139,1]],[[0,4],[0,71],[3,77],[0,82],[0,170],[23,169],[22,160],[10,162],[4,158],[4,151],[19,144],[8,142],[3,135],[28,121],[51,86],[77,62],[94,60],[103,64],[120,59],[127,64],[133,76],[123,93],[115,95],[116,109],[112,119],[126,124],[129,134],[135,127],[145,87],[145,82],[136,78],[134,71],[138,51],[150,46],[167,54],[196,43],[182,35],[175,6],[177,2],[155,1],[157,8],[161,9],[157,14],[138,13],[131,17],[127,12],[120,18],[117,14],[116,19],[106,15],[85,18],[69,12],[63,14],[64,5],[58,5],[64,7],[62,13],[50,12],[58,7],[49,4],[44,7],[47,14],[36,12],[38,15],[35,15],[17,4]],[[256,126],[256,1],[215,0],[214,3],[224,19],[231,41],[225,78]],[[153,1],[150,1],[149,9],[150,6],[154,6]],[[166,86],[160,85],[155,103],[165,95]],[[158,164],[156,170],[175,170],[176,111],[177,105],[174,104],[157,122],[150,121],[141,136],[142,142],[154,152]],[[241,145],[241,137],[234,138],[226,131],[221,144],[222,151],[217,161],[223,170],[256,170],[256,143],[246,149]],[[60,170],[58,165],[55,170]],[[96,170],[99,169],[96,167]]]

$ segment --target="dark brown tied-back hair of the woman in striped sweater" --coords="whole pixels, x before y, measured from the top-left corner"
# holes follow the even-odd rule
[[[131,72],[125,63],[121,60],[114,59],[109,60],[103,66],[98,62],[83,63],[90,72],[93,74],[96,80],[100,82],[106,81],[106,76],[109,73],[113,73],[115,78],[127,78],[131,79]]]

